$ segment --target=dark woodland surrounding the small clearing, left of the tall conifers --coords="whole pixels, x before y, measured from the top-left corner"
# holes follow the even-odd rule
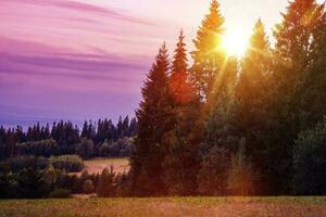
[[[126,174],[113,168],[89,174],[84,161],[125,157],[133,150],[136,118],[71,122],[4,129],[0,127],[0,199],[70,197],[71,194],[117,196]],[[76,173],[80,173],[77,175]]]

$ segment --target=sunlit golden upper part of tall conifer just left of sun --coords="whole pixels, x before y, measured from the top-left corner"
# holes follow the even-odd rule
[[[218,72],[223,68],[225,52],[223,51],[222,35],[224,18],[220,13],[220,3],[213,0],[210,13],[203,20],[197,38],[193,40],[196,50],[191,53],[193,65],[191,76],[198,88],[198,93],[206,100],[213,90]]]

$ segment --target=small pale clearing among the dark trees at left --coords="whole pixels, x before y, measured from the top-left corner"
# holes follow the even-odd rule
[[[93,158],[84,161],[85,170],[89,174],[102,173],[102,170],[111,165],[113,166],[114,171],[116,173],[127,173],[129,170],[128,158]],[[82,173],[77,173],[80,175]]]

